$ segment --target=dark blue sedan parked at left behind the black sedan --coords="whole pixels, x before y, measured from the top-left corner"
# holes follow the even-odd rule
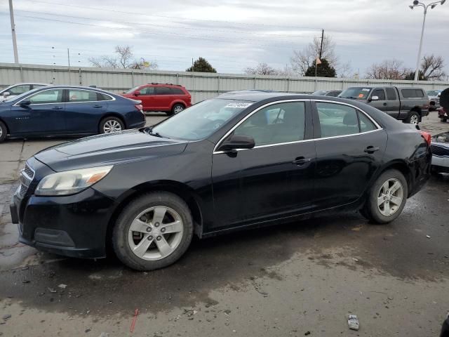
[[[140,101],[83,86],[37,88],[0,105],[0,142],[7,136],[89,135],[144,125]]]

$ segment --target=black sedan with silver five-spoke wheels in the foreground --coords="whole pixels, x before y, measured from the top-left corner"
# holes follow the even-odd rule
[[[93,136],[27,160],[11,216],[20,242],[136,270],[192,236],[359,209],[399,216],[430,174],[430,135],[363,103],[234,92],[152,128]]]

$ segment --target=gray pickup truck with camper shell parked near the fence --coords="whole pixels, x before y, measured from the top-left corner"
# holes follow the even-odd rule
[[[418,124],[429,114],[429,97],[422,88],[353,86],[338,97],[361,100],[405,123]]]

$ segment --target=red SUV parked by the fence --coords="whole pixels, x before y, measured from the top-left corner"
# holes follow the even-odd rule
[[[192,105],[192,96],[177,84],[143,84],[121,94],[127,98],[139,98],[144,111],[161,111],[177,114]]]

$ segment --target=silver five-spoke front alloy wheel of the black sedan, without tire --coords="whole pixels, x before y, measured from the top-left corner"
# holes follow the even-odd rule
[[[161,260],[177,249],[183,232],[179,213],[166,206],[154,206],[135,217],[128,230],[128,244],[143,260]]]

